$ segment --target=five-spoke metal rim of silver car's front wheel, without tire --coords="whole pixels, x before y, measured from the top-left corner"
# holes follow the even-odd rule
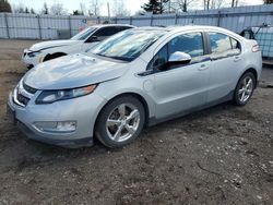
[[[116,142],[123,142],[132,137],[140,124],[140,112],[132,104],[117,106],[107,118],[106,131]]]

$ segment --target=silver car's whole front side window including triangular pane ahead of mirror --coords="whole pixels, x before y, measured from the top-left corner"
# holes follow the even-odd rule
[[[204,55],[203,39],[201,33],[182,34],[167,43],[152,59],[147,70],[159,69],[167,61],[171,53],[176,51],[186,52],[194,60]]]

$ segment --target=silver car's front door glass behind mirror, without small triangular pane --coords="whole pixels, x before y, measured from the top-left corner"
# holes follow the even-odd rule
[[[168,44],[169,55],[181,51],[191,56],[191,58],[204,55],[203,39],[201,33],[183,34],[175,37]]]

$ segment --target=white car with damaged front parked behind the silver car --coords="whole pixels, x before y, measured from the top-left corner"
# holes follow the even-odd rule
[[[90,26],[66,40],[50,40],[33,45],[29,49],[24,49],[22,56],[23,62],[28,69],[36,64],[59,58],[66,55],[84,52],[92,48],[98,41],[124,31],[132,28],[132,25],[126,24],[104,24]]]

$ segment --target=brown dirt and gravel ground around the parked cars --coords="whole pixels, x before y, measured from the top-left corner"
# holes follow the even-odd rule
[[[120,149],[64,149],[26,140],[5,117],[33,43],[0,40],[0,205],[273,204],[273,68],[245,107],[149,128]]]

